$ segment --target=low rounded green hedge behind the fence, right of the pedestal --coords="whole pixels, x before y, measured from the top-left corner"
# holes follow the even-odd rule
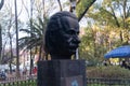
[[[130,78],[130,70],[119,66],[94,67],[87,69],[88,77]]]

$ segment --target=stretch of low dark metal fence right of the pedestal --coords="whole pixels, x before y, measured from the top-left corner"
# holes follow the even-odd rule
[[[87,78],[87,86],[130,86],[130,78]]]

